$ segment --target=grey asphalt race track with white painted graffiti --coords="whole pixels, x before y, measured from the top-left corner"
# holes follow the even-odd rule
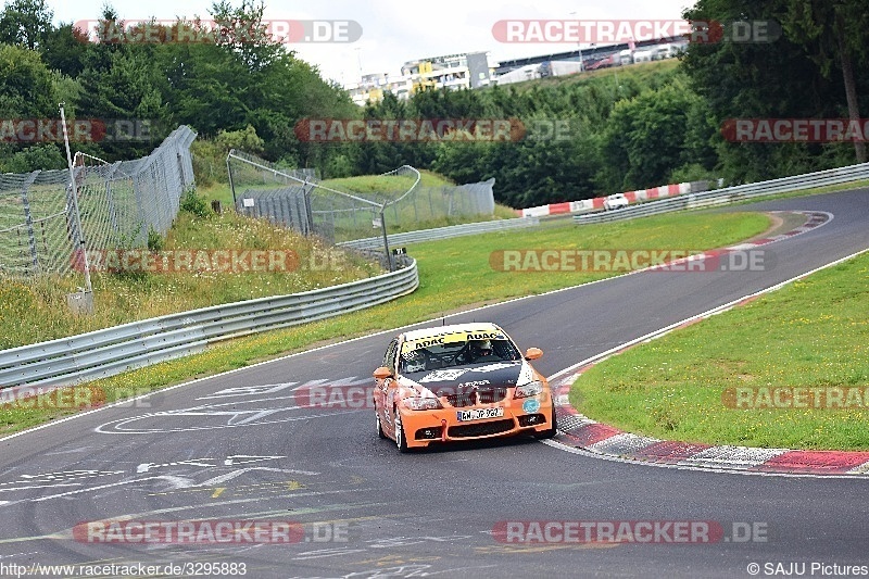
[[[866,249],[867,201],[869,191],[862,190],[736,207],[834,215],[822,227],[766,246],[776,254],[771,270],[647,272],[446,322],[502,325],[520,347],[543,350],[536,366],[551,376]],[[400,455],[394,443],[378,439],[363,394],[353,394],[373,385],[370,373],[393,333],[196,381],[3,439],[0,577],[15,575],[11,565],[35,563],[178,566],[151,574],[160,577],[198,570],[238,577],[241,567],[229,564],[243,564],[244,575],[257,578],[752,577],[752,563],[760,565],[759,576],[798,571],[805,564],[806,576],[829,571],[830,577],[833,565],[869,565],[865,478],[655,468],[524,439]],[[325,383],[343,383],[338,392],[347,394],[345,403],[300,407]],[[88,521],[117,519],[292,521],[303,530],[294,542],[277,544],[243,534],[231,543],[103,543],[113,536],[81,533]],[[514,539],[526,531],[531,538],[540,529],[532,532],[528,521],[646,521],[664,530],[648,542],[618,544],[558,541],[561,524],[546,527],[554,541],[546,544],[507,542],[509,532],[493,533],[512,529]],[[685,542],[676,532],[684,528],[680,521],[703,532]],[[599,523],[593,528],[603,532],[607,527]],[[640,537],[639,524],[631,525]],[[709,529],[715,537],[705,541]],[[678,542],[668,542],[673,538]],[[226,565],[196,566],[216,563]],[[827,567],[813,574],[813,563]],[[41,576],[95,576],[90,570]]]

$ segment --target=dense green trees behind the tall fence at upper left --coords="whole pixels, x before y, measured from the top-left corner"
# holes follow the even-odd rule
[[[46,0],[11,0],[0,14],[0,116],[56,118],[58,103],[65,102],[67,117],[147,122],[150,140],[76,143],[109,161],[147,154],[180,124],[205,141],[250,126],[263,154],[298,163],[293,126],[299,118],[353,115],[357,106],[316,67],[265,35],[263,10],[252,0],[240,7],[221,0],[212,5],[211,20],[224,34],[214,41],[135,42],[118,40],[137,30],[106,7],[101,41],[95,42],[73,24],[54,26]],[[198,22],[179,25],[203,28]],[[165,26],[151,28],[175,34]],[[0,171],[64,165],[56,144],[5,137]]]

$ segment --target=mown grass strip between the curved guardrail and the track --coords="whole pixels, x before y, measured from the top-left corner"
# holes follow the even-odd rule
[[[576,226],[546,224],[540,227],[462,237],[414,244],[420,287],[411,295],[362,312],[259,336],[221,343],[202,354],[165,362],[92,382],[101,399],[112,402],[214,375],[312,344],[370,335],[438,315],[530,295],[607,277],[596,273],[505,273],[489,264],[491,252],[503,249],[552,248],[696,248],[710,249],[738,242],[767,229],[769,219],[759,214],[662,215],[617,224]],[[386,343],[386,342],[385,342]],[[365,374],[368,368],[361,368]],[[0,432],[10,433],[58,418],[74,411],[9,408],[0,413]]]

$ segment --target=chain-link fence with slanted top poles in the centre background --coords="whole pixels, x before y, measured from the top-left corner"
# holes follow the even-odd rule
[[[370,190],[332,187],[308,176],[278,167],[242,151],[227,156],[230,186],[239,212],[267,217],[274,223],[331,242],[350,241],[389,232],[448,225],[451,218],[494,212],[494,179],[484,182],[421,187],[419,172],[403,166],[370,177]],[[302,221],[307,219],[307,224]]]

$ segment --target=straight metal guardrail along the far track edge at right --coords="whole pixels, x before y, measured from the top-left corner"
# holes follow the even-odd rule
[[[602,213],[577,215],[574,221],[578,224],[607,223],[634,217],[645,217],[646,215],[657,215],[671,211],[685,209],[701,209],[715,205],[735,203],[755,197],[771,196],[798,191],[801,189],[813,189],[815,187],[826,187],[829,185],[841,185],[857,180],[869,179],[869,163],[852,165],[848,167],[831,168],[793,177],[782,177],[761,182],[738,185],[726,187],[702,193],[690,193],[660,201],[650,201],[639,205],[631,205],[625,209],[607,211]]]

